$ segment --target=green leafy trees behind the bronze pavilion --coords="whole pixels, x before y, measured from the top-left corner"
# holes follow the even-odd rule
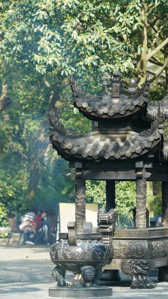
[[[33,206],[54,211],[74,202],[68,163],[49,143],[48,109],[68,130],[88,133],[91,122],[73,108],[71,75],[87,92],[151,75],[150,101],[168,93],[167,0],[1,0],[0,225],[6,211]],[[168,125],[165,125],[168,137]],[[161,213],[161,183],[148,186],[150,213]],[[87,181],[87,200],[105,205],[105,182]],[[120,225],[135,206],[135,183],[116,183]],[[152,215],[152,214],[151,214]]]

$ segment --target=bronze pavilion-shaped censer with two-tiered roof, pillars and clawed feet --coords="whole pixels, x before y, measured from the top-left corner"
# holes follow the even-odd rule
[[[75,168],[77,239],[85,223],[85,180],[105,180],[106,211],[99,211],[92,235],[101,235],[110,248],[104,279],[115,275],[117,280],[122,270],[132,276],[131,288],[155,288],[149,278],[154,267],[159,267],[159,281],[168,281],[168,140],[163,132],[168,95],[148,103],[149,85],[147,77],[138,89],[132,78],[125,89],[116,72],[112,93],[105,88],[105,96],[99,97],[85,93],[71,79],[74,106],[93,124],[93,132],[86,135],[66,131],[50,111],[52,146]],[[136,181],[136,227],[115,229],[115,181],[126,180]],[[162,227],[147,223],[148,180],[162,181]]]

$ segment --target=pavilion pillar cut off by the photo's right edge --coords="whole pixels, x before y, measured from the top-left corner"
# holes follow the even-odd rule
[[[168,227],[168,182],[162,182],[162,226]]]

